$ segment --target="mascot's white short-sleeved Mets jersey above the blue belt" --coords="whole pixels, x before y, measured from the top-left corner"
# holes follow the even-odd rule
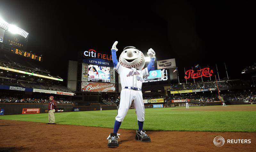
[[[135,68],[126,68],[120,65],[119,62],[114,69],[120,75],[122,88],[135,87],[141,90],[143,78],[149,76],[148,68],[142,70],[138,70]]]

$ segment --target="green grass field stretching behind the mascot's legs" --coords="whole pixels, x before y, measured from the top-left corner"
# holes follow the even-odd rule
[[[178,108],[184,109],[184,107],[145,109],[144,129],[151,131],[256,132],[256,111],[175,110]],[[220,106],[220,108],[222,107]],[[62,112],[55,113],[55,119],[57,124],[112,128],[116,113],[117,110]],[[0,116],[0,119],[46,123],[48,121],[48,113],[3,115]],[[138,128],[137,116],[134,109],[128,111],[120,128],[132,130]]]

